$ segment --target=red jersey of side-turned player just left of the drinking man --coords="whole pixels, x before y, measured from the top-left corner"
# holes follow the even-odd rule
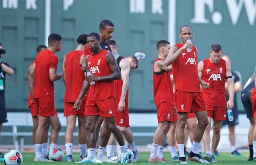
[[[153,64],[153,91],[155,105],[158,107],[162,101],[174,105],[171,71],[162,70],[160,72],[154,72],[154,65],[158,60],[162,59],[157,58]]]

